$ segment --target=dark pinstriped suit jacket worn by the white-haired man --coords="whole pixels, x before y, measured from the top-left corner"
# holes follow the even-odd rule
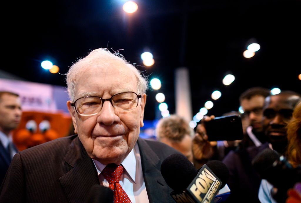
[[[138,138],[150,202],[174,202],[163,179],[162,161],[177,150]],[[92,159],[77,135],[59,138],[17,153],[1,186],[0,202],[85,202],[100,184]]]

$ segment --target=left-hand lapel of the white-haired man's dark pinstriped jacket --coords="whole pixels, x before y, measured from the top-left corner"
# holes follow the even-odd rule
[[[70,144],[64,161],[66,171],[60,177],[60,182],[68,201],[85,202],[91,187],[100,183],[93,160],[88,156],[78,137]]]

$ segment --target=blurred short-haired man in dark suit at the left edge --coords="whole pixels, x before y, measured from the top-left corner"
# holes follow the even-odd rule
[[[21,102],[19,95],[0,91],[0,184],[17,148],[12,142],[11,131],[21,120]]]

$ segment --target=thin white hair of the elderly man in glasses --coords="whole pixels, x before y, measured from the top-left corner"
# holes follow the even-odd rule
[[[126,67],[132,70],[137,79],[138,94],[143,94],[146,92],[148,87],[147,77],[141,74],[141,71],[139,71],[134,65],[126,61],[126,59],[119,52],[111,53],[108,49],[101,48],[91,51],[88,56],[76,61],[76,63],[74,63],[68,70],[66,74],[66,82],[68,87],[68,94],[72,102],[75,101],[75,87],[77,77],[87,68],[110,68],[110,63],[112,62],[112,60],[122,62],[126,65]]]

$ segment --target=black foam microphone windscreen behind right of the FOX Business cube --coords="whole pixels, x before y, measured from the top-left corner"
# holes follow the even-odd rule
[[[228,182],[230,173],[227,166],[218,160],[212,160],[206,163],[211,171],[222,181],[221,188],[223,188]]]

